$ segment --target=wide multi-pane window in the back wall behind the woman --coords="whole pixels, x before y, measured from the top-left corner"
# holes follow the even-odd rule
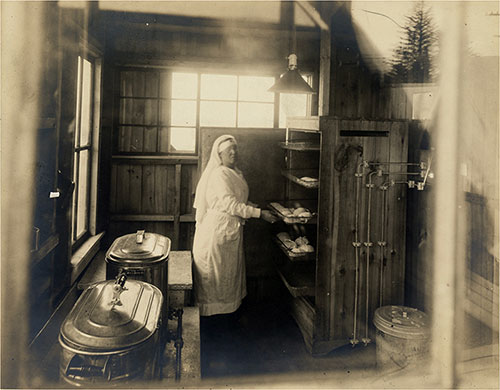
[[[199,127],[285,127],[310,113],[307,95],[267,92],[271,76],[124,69],[120,78],[118,153],[195,154]]]

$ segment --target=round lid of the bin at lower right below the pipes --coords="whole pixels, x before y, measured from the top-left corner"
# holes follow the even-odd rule
[[[427,338],[430,321],[427,314],[407,306],[382,306],[375,310],[375,327],[391,336],[404,339]]]

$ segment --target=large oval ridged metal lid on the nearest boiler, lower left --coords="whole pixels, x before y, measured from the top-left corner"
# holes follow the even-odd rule
[[[117,287],[118,286],[118,287]],[[158,326],[163,296],[137,280],[112,280],[87,288],[64,320],[60,339],[82,351],[129,348],[151,337]]]

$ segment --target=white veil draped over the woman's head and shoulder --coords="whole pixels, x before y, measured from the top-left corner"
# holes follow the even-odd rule
[[[231,140],[232,142],[226,142]],[[224,145],[222,145],[224,143]],[[196,209],[196,222],[200,222],[203,219],[203,216],[207,212],[207,187],[208,187],[208,179],[210,178],[210,174],[216,169],[218,166],[222,165],[222,160],[220,159],[219,153],[224,150],[229,145],[236,144],[236,139],[232,135],[221,135],[214,141],[212,145],[212,152],[210,153],[210,159],[208,160],[208,164],[205,167],[205,170],[201,174],[200,181],[196,186],[196,194],[194,197],[194,208]],[[221,149],[219,150],[219,147]]]

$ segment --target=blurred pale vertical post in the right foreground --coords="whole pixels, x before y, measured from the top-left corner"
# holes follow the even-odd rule
[[[463,4],[454,6],[441,41],[441,98],[436,131],[436,192],[434,200],[434,263],[432,304],[432,365],[443,388],[456,386],[457,345],[462,320],[459,283],[465,263],[459,228],[458,134],[462,77]]]

